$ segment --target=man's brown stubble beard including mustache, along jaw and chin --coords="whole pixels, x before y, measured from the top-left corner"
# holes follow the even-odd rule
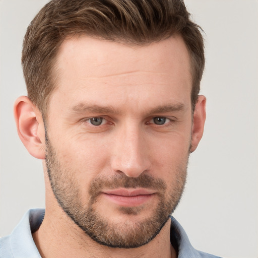
[[[127,177],[117,174],[112,178],[95,178],[89,187],[89,200],[80,197],[80,187],[73,179],[76,171],[66,169],[60,164],[57,155],[50,144],[46,133],[46,168],[54,196],[74,223],[76,223],[88,236],[99,244],[109,247],[136,248],[149,243],[161,231],[170,215],[177,207],[186,180],[188,157],[176,171],[176,182],[169,189],[164,180],[154,178],[148,174],[139,177]],[[101,189],[123,188],[151,188],[159,192],[159,203],[149,218],[136,221],[134,216],[141,213],[142,207],[119,207],[121,214],[128,215],[123,223],[111,222],[95,209],[95,203]],[[132,217],[130,217],[132,216]],[[133,219],[130,219],[133,218]]]

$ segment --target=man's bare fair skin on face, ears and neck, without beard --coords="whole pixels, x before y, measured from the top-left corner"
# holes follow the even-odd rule
[[[78,186],[84,206],[90,183],[98,177],[147,174],[166,183],[165,198],[178,181],[183,188],[178,178],[186,175],[189,153],[202,138],[206,99],[199,96],[192,114],[189,54],[181,37],[145,46],[70,38],[61,45],[56,66],[58,86],[50,97],[47,134],[59,163],[73,171],[69,179]],[[92,125],[92,117],[104,118],[103,123]],[[165,124],[156,124],[155,117],[165,117]],[[41,113],[22,96],[15,103],[15,118],[29,153],[43,160],[46,212],[33,234],[42,257],[176,257],[169,220],[152,241],[137,248],[107,247],[85,234],[53,195]],[[119,210],[123,205],[100,195],[94,209],[118,228],[125,222],[133,227],[150,218],[159,202],[156,189],[144,203],[134,204],[140,212],[130,215]]]

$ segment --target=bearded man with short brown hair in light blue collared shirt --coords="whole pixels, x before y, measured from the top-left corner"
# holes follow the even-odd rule
[[[205,122],[204,46],[183,2],[54,0],[34,18],[15,103],[46,209],[1,257],[215,257],[171,217]]]

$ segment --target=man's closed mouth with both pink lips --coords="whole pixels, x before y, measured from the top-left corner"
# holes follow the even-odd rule
[[[102,192],[104,198],[123,207],[136,207],[145,204],[155,196],[149,189],[113,189]]]

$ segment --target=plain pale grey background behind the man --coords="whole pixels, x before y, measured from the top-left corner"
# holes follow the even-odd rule
[[[26,95],[20,64],[29,22],[45,0],[0,0],[0,236],[30,208],[44,207],[40,160],[16,133],[13,103]],[[207,122],[190,157],[174,213],[197,249],[228,258],[258,257],[258,1],[186,0],[206,33],[202,94]]]

